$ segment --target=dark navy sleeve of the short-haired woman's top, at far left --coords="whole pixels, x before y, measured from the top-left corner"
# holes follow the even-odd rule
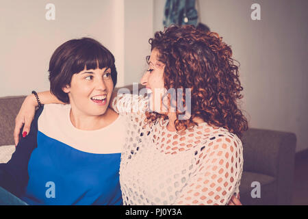
[[[36,111],[30,133],[20,138],[16,151],[7,164],[0,164],[0,186],[16,196],[25,192],[29,180],[28,163],[31,153],[37,147],[38,117],[44,107]]]

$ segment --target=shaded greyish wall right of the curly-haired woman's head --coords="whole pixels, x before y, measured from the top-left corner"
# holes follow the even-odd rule
[[[155,1],[155,12],[164,0]],[[261,21],[251,20],[251,5]],[[251,127],[292,131],[308,149],[308,1],[199,0],[201,21],[231,44],[241,63],[242,108]],[[154,27],[162,29],[162,14]]]

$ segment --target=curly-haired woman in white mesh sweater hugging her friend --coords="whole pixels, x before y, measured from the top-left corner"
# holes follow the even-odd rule
[[[112,101],[127,116],[123,203],[226,205],[240,192],[240,139],[248,129],[237,105],[242,86],[231,48],[218,34],[190,25],[170,26],[149,42],[149,69],[141,79],[149,95],[118,94]],[[170,90],[189,92],[174,99]],[[41,96],[43,103],[59,103]]]

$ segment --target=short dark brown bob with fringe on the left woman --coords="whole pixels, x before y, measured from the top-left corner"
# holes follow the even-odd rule
[[[110,68],[116,86],[118,73],[114,55],[100,42],[92,38],[68,40],[55,49],[49,62],[50,91],[63,103],[69,103],[68,94],[62,88],[70,86],[74,74],[89,69]]]

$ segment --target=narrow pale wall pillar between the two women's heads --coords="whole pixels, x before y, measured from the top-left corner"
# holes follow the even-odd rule
[[[139,83],[150,55],[153,37],[153,1],[125,0],[125,85]]]

